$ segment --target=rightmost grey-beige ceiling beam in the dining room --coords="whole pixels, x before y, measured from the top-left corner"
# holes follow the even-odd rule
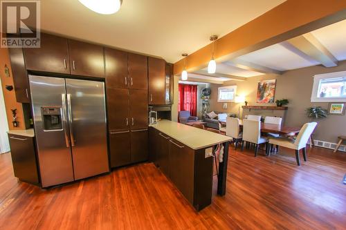
[[[338,60],[323,46],[318,39],[316,39],[311,32],[294,37],[293,39],[287,40],[287,42],[293,46],[293,52],[298,51],[303,52],[305,55],[309,56],[311,59],[314,59],[325,67],[334,67],[338,66]],[[294,50],[295,49],[295,50]]]

